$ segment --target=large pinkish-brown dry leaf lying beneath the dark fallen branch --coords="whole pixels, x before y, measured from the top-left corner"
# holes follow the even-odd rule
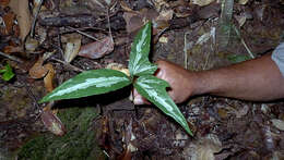
[[[82,46],[79,56],[90,59],[99,59],[105,54],[110,53],[114,50],[114,39],[111,37],[105,37],[100,41],[95,41]]]

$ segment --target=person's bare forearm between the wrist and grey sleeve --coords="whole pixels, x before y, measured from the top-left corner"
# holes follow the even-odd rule
[[[284,78],[271,56],[218,70],[197,72],[196,79],[193,95],[212,94],[256,101],[284,97]]]

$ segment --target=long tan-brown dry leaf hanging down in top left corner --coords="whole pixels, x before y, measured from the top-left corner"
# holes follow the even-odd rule
[[[16,20],[20,26],[20,37],[22,41],[24,41],[32,25],[28,0],[11,0],[9,7],[16,14]]]

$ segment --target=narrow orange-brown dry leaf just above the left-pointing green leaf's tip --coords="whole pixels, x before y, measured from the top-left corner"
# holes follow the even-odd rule
[[[54,90],[54,76],[55,76],[55,69],[51,63],[47,63],[44,65],[46,70],[48,70],[47,75],[44,78],[45,82],[45,88],[48,93],[51,93]]]

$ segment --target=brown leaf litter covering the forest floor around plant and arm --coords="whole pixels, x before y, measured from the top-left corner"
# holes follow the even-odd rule
[[[12,151],[21,147],[20,159],[28,159],[32,156],[37,156],[38,159],[43,157],[64,159],[67,155],[82,159],[82,157],[92,157],[94,153],[95,158],[121,157],[125,159],[130,159],[130,157],[132,159],[164,159],[165,157],[168,159],[187,159],[188,157],[212,159],[212,156],[215,159],[283,159],[284,110],[282,101],[262,104],[209,96],[193,98],[188,103],[179,106],[190,123],[190,128],[196,133],[196,137],[191,138],[158,110],[152,107],[135,108],[132,103],[127,102],[128,100],[125,99],[129,95],[122,89],[118,94],[108,96],[56,102],[54,108],[59,108],[57,116],[61,119],[67,128],[64,136],[56,137],[49,134],[40,119],[37,119],[39,109],[35,107],[36,101],[31,100],[32,98],[27,96],[23,87],[23,84],[32,87],[34,95],[39,100],[47,91],[79,73],[73,67],[55,61],[55,59],[66,61],[63,54],[68,41],[63,41],[63,37],[70,33],[79,34],[70,27],[92,35],[102,41],[105,40],[105,44],[110,46],[104,46],[83,35],[82,47],[90,44],[95,44],[96,47],[91,49],[94,50],[92,53],[94,56],[87,58],[75,56],[78,47],[70,49],[72,56],[67,61],[79,69],[123,70],[129,58],[132,36],[145,20],[156,23],[159,29],[157,33],[161,33],[157,35],[167,38],[164,42],[157,40],[153,46],[154,60],[168,59],[196,71],[240,62],[249,58],[248,50],[244,44],[239,42],[240,38],[246,41],[247,48],[257,56],[272,50],[277,45],[284,26],[283,17],[281,17],[283,15],[282,1],[235,1],[229,23],[233,23],[240,32],[240,38],[234,30],[230,30],[229,37],[226,37],[225,41],[227,47],[222,48],[218,52],[214,48],[214,37],[208,34],[212,27],[217,28],[218,26],[221,10],[218,1],[196,0],[196,4],[185,0],[111,1],[108,7],[110,7],[113,44],[107,32],[109,24],[106,8],[94,8],[87,0],[84,2],[71,0],[64,5],[62,4],[67,2],[62,2],[61,5],[57,5],[57,2],[52,0],[44,2],[39,11],[40,16],[35,25],[35,37],[33,37],[35,42],[31,42],[28,39],[23,41],[31,29],[31,17],[34,16],[31,13],[35,5],[29,3],[32,10],[22,8],[21,10],[24,11],[21,13],[25,16],[21,20],[20,11],[13,9],[17,7],[17,3],[13,4],[10,11],[7,10],[9,2],[14,3],[14,0],[1,1],[1,4],[3,3],[1,19],[4,20],[7,26],[1,23],[3,36],[1,36],[0,48],[7,56],[0,56],[0,69],[3,69],[9,61],[15,78],[12,82],[0,79],[0,104],[2,106],[0,109],[0,155],[7,158],[13,157]],[[104,1],[98,2],[105,3]],[[47,14],[47,11],[55,11],[55,5],[61,9],[64,7],[64,10],[54,12],[59,14],[52,17]],[[120,7],[122,11],[119,10]],[[90,9],[93,9],[93,12],[86,12]],[[52,19],[46,19],[43,14]],[[129,19],[123,17],[123,14],[129,14]],[[158,19],[159,15],[164,15],[162,21]],[[49,26],[43,25],[47,20],[50,21]],[[156,22],[156,20],[158,21]],[[54,21],[68,22],[61,24],[70,26],[52,26]],[[187,36],[185,33],[188,33]],[[115,41],[119,37],[126,38],[115,46]],[[198,42],[198,39],[204,39],[204,37],[206,38],[202,44]],[[184,50],[185,38],[192,46]],[[27,50],[28,53],[26,53],[22,48],[24,45],[28,45],[25,48],[32,51]],[[43,53],[52,51],[55,53],[49,58],[37,61]],[[186,54],[188,61],[185,61]],[[91,57],[96,58],[91,60]],[[22,64],[14,61],[19,59],[27,69],[23,69]],[[114,66],[111,63],[119,63],[122,66],[119,64]],[[46,67],[47,64],[49,66]],[[28,71],[31,75],[28,75]],[[40,108],[44,107],[45,104],[40,106]],[[82,109],[84,107],[92,108]],[[99,115],[88,114],[94,113],[94,110],[99,112]],[[70,122],[74,123],[70,124]],[[103,136],[99,137],[99,135]],[[94,139],[93,137],[99,138]],[[70,141],[76,143],[78,146],[76,146],[76,148],[83,149],[76,152],[74,148],[67,147],[68,149],[59,150],[54,155],[55,148],[61,148],[62,145]],[[85,143],[90,144],[84,145]],[[97,146],[100,146],[102,150]],[[82,157],[79,158],[79,155]]]

